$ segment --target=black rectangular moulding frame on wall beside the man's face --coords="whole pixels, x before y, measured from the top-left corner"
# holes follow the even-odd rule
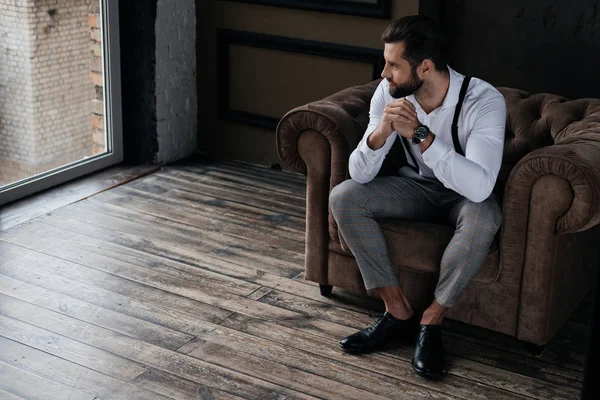
[[[217,29],[217,112],[219,119],[275,129],[279,118],[234,110],[229,105],[230,46],[242,45],[271,50],[359,61],[373,66],[372,79],[379,79],[384,66],[382,51],[366,47],[295,39],[262,33]]]

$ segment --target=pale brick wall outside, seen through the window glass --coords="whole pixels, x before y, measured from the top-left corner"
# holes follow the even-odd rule
[[[92,154],[91,1],[0,0],[0,184]]]

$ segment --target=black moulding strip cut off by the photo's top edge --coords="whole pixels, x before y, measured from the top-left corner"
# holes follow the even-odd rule
[[[331,12],[369,18],[389,19],[392,0],[234,0],[242,3],[263,4],[302,10]]]

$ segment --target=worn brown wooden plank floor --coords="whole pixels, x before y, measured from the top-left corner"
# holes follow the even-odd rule
[[[412,347],[344,354],[381,303],[303,280],[304,196],[298,175],[186,164],[0,232],[0,398],[579,397],[589,301],[540,358],[446,320],[439,382]]]

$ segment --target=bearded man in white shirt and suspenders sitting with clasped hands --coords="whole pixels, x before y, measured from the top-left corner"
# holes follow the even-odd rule
[[[352,179],[333,189],[329,205],[365,287],[380,294],[386,311],[340,346],[367,353],[416,337],[413,369],[439,377],[444,313],[482,267],[502,219],[492,189],[502,161],[506,105],[490,84],[469,81],[447,65],[435,21],[401,18],[382,39],[384,79],[371,100],[369,126],[350,156]],[[397,176],[376,177],[395,140],[403,141],[410,166]],[[435,300],[420,320],[399,286],[376,218],[456,229],[441,259]]]

